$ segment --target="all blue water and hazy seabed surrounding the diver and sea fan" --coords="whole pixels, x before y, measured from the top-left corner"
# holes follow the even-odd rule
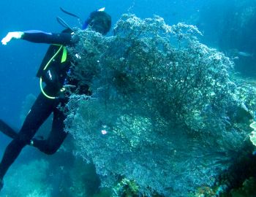
[[[65,15],[59,7],[79,15],[83,20],[88,17],[90,12],[106,7],[105,11],[112,16],[113,27],[121,18],[121,15],[125,13],[135,14],[141,19],[153,18],[154,15],[159,15],[164,18],[165,23],[169,26],[176,25],[177,23],[197,26],[198,30],[203,34],[203,36],[198,36],[201,43],[210,48],[215,48],[229,57],[235,63],[233,73],[236,74],[238,79],[245,80],[252,87],[256,84],[255,0],[2,0],[0,1],[0,7],[1,38],[9,31],[37,29],[59,32],[62,30],[62,26],[57,22],[57,16],[63,18],[70,26],[78,26],[76,19]],[[110,31],[108,36],[113,36],[113,31]],[[47,48],[48,45],[34,44],[22,40],[14,40],[7,46],[0,46],[0,118],[14,128],[20,128],[25,116],[24,114],[29,109],[29,103],[39,93],[39,80],[35,77],[35,74]],[[252,108],[249,111],[254,115],[255,109]],[[246,115],[242,116],[245,117]],[[45,128],[49,128],[49,125],[45,125]],[[248,134],[250,133],[249,130],[246,131]],[[4,134],[0,135],[1,154],[9,142],[10,139],[4,136]],[[251,148],[253,150],[253,147]],[[75,154],[72,154],[74,153],[72,149],[71,136],[56,155],[43,155],[31,147],[26,147],[10,171],[7,172],[4,189],[0,196],[113,195],[107,189],[105,192],[99,191],[100,180],[95,175],[94,166],[87,165],[79,157],[79,154],[78,157],[75,157]],[[189,152],[189,149],[187,152]],[[249,158],[246,158],[246,160],[255,162],[255,158],[252,155],[249,155]],[[251,168],[251,165],[252,163],[248,164],[249,168]],[[253,170],[250,173],[252,174],[246,178],[251,180],[250,184],[254,185]],[[255,174],[256,171],[254,171],[254,176]],[[129,186],[133,184],[132,181],[127,182],[122,184]],[[241,180],[241,182],[243,181]],[[215,195],[214,192],[210,192],[211,188],[206,189],[203,188],[204,185],[201,186],[202,192],[200,195]],[[238,187],[238,185],[236,186]],[[137,186],[133,185],[130,187],[134,187],[133,189],[137,190]],[[127,193],[120,194],[120,196],[140,196],[140,194],[133,192]],[[192,193],[193,191],[191,191],[191,195]],[[194,194],[197,195],[198,193],[196,194],[195,192]],[[158,194],[154,195],[157,196]],[[247,196],[249,195],[254,196],[255,194],[247,193]],[[170,193],[165,196],[170,196]],[[178,194],[173,191],[171,196],[188,196],[188,194],[187,190],[184,193]]]

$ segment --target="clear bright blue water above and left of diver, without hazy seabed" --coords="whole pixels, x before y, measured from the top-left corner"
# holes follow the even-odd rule
[[[64,18],[71,26],[77,26],[77,21],[61,12],[59,7],[74,12],[83,19],[86,19],[91,11],[106,7],[106,12],[112,16],[113,26],[118,18],[127,12],[140,18],[159,15],[170,25],[184,22],[197,26],[204,34],[200,39],[210,47],[216,47],[223,52],[236,49],[249,54],[241,55],[236,69],[254,78],[256,19],[252,18],[248,27],[234,24],[232,21],[236,21],[240,12],[236,9],[238,2],[245,2],[243,7],[256,6],[255,0],[1,0],[0,38],[9,31],[37,29],[59,32],[62,27],[56,21],[57,16]],[[39,80],[35,75],[47,47],[45,44],[23,40],[13,40],[7,46],[0,45],[0,118],[17,128],[21,125],[20,111],[26,96],[29,93],[37,96],[39,93]],[[0,134],[0,152],[7,142],[9,139]]]

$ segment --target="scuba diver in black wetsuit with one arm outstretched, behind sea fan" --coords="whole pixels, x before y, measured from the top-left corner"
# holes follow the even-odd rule
[[[73,15],[69,12],[67,13]],[[105,35],[110,31],[111,17],[104,11],[104,8],[91,12],[89,18],[83,23],[82,29],[88,27],[93,31]],[[67,45],[75,45],[78,42],[78,40],[73,39],[74,35],[75,32],[72,31],[72,28],[67,28],[60,34],[46,33],[43,31],[16,31],[9,32],[1,40],[3,45],[7,45],[12,39],[24,39],[29,42],[47,43],[51,45],[37,72],[42,92],[39,93],[39,96],[31,107],[20,131],[16,133],[9,125],[0,120],[0,130],[13,138],[12,142],[8,144],[0,163],[0,190],[4,185],[4,175],[15,159],[18,158],[23,147],[29,144],[48,155],[52,155],[59,149],[67,136],[67,132],[64,131],[64,120],[66,116],[59,107],[64,107],[68,101],[64,85],[76,85],[78,87],[78,81],[69,79],[72,63],[65,47]],[[44,88],[42,87],[42,82],[45,82]],[[79,90],[80,93],[90,94],[88,85],[83,85],[82,90],[81,88]],[[39,127],[51,113],[53,113],[53,123],[48,139],[34,137]]]

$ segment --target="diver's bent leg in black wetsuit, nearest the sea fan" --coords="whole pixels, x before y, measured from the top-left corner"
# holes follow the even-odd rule
[[[59,110],[56,106],[53,110],[53,125],[48,139],[33,139],[33,146],[37,147],[40,151],[45,152],[48,155],[54,154],[67,136],[67,132],[64,131],[65,118],[66,116],[64,113],[61,112],[61,110]]]

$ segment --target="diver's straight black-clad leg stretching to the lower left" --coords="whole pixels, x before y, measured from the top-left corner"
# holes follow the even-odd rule
[[[24,121],[20,132],[15,139],[10,142],[4,152],[4,156],[0,163],[0,181],[4,178],[4,174],[6,174],[7,169],[9,169],[18,157],[20,151],[26,144],[29,144],[40,125],[42,125],[52,111],[52,101],[47,99],[41,93],[31,107],[31,111],[26,116],[26,120]]]

